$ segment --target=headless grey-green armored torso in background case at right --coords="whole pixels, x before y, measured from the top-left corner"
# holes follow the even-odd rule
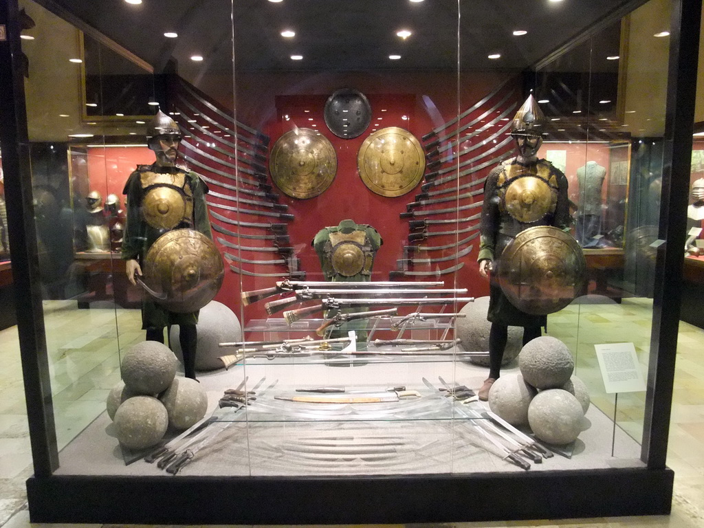
[[[606,169],[587,161],[577,169],[579,184],[579,210],[577,211],[577,241],[582,247],[591,247],[594,237],[601,231],[601,187],[606,177]]]

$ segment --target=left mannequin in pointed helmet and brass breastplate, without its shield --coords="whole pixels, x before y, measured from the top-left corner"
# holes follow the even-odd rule
[[[181,132],[175,121],[158,111],[147,129],[147,145],[154,151],[152,165],[137,165],[127,179],[127,221],[122,237],[122,258],[127,279],[136,284],[141,264],[151,245],[165,232],[189,228],[213,239],[206,209],[208,187],[195,172],[176,165]],[[196,378],[196,323],[198,312],[175,313],[145,299],[142,328],[148,341],[164,342],[164,327],[179,325],[184,371]]]

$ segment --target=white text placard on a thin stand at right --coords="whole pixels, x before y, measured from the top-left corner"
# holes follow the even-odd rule
[[[607,394],[646,390],[633,343],[594,345]]]

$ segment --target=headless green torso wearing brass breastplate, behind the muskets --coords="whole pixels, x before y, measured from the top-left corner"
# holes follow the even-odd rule
[[[367,282],[372,279],[374,257],[384,241],[374,227],[342,220],[334,227],[324,227],[315,235],[313,247],[318,253],[325,279],[332,282]],[[350,308],[350,312],[363,311]],[[358,341],[365,341],[366,320],[358,320],[335,329],[330,337],[342,337],[356,330]]]

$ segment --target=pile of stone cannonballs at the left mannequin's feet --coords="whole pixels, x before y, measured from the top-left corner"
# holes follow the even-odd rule
[[[188,429],[205,416],[206,391],[194,379],[176,377],[177,365],[174,353],[157,341],[138,343],[122,358],[122,381],[107,401],[122,446],[155,446],[168,427]]]

